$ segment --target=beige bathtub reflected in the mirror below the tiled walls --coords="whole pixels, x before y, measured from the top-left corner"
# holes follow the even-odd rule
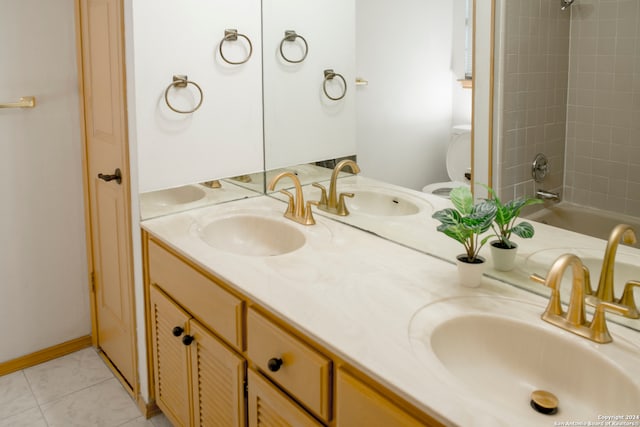
[[[545,207],[526,217],[532,221],[604,240],[609,238],[609,233],[618,224],[629,224],[640,233],[640,218],[568,202]]]

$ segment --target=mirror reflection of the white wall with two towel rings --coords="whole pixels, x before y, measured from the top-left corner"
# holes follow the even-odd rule
[[[264,0],[262,10],[266,169],[354,154],[355,0]],[[299,64],[280,55],[285,30],[307,40],[309,52]],[[302,46],[300,40],[285,43],[283,52],[300,58]],[[332,101],[323,94],[325,69],[345,78],[343,99]],[[335,82],[327,90],[339,97],[342,82]]]

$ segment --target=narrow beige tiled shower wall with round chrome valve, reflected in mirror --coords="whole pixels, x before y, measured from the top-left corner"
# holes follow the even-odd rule
[[[578,0],[579,1],[579,0]],[[538,188],[559,191],[564,151],[570,21],[558,0],[504,0],[503,104],[497,168],[501,197],[532,195],[531,163],[549,159]]]

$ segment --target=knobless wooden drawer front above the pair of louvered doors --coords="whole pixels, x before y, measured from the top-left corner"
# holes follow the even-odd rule
[[[242,349],[243,301],[149,240],[149,278],[202,324]]]

